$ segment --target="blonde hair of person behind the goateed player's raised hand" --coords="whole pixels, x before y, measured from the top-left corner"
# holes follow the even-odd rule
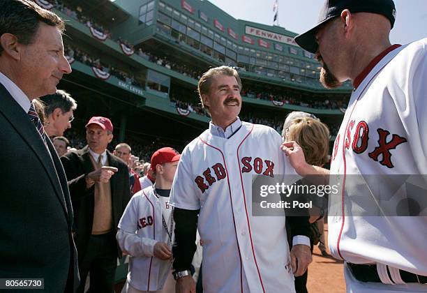
[[[290,123],[286,138],[301,146],[308,164],[322,166],[327,163],[329,129],[324,123],[310,117],[294,119]]]

